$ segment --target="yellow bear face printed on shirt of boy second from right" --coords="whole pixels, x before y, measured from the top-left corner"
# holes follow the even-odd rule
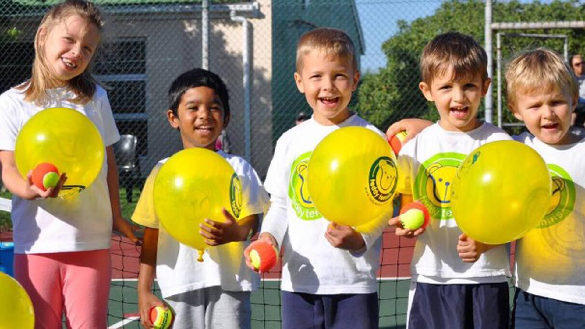
[[[451,189],[457,167],[444,166],[441,163],[433,163],[425,170],[426,196],[432,204],[440,208],[448,208],[451,202]]]

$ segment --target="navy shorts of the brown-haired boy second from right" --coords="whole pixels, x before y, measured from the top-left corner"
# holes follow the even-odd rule
[[[508,283],[417,283],[409,329],[505,329],[510,321]]]

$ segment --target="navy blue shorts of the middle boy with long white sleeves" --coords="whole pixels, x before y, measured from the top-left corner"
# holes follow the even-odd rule
[[[283,329],[377,329],[378,294],[282,292]]]

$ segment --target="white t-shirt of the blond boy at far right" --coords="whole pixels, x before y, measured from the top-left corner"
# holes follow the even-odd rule
[[[548,145],[528,132],[515,139],[542,156],[553,178],[545,218],[516,244],[516,286],[585,304],[585,139]]]

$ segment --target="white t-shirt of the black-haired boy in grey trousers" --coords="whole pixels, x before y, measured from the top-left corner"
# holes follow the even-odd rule
[[[218,154],[228,160],[242,183],[240,218],[263,214],[268,208],[269,197],[252,166],[239,156],[222,151]],[[132,220],[138,224],[159,229],[156,277],[163,297],[213,286],[232,292],[256,289],[260,278],[247,268],[243,258],[249,241],[209,247],[205,249],[204,261],[198,262],[196,249],[181,244],[168,234],[163,225],[159,225],[159,218],[154,212],[153,188],[154,179],[166,160],[161,160],[150,172],[132,215]],[[198,234],[198,229],[194,234]]]

